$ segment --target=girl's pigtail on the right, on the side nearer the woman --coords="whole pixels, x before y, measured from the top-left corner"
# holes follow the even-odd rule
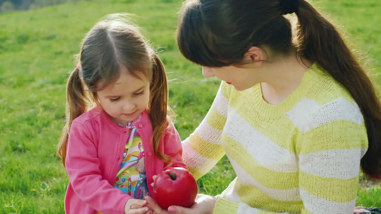
[[[167,115],[171,112],[168,106],[168,85],[165,68],[160,58],[152,53],[152,80],[150,84],[149,118],[152,123],[152,141],[158,158],[171,164],[171,157],[159,151],[159,143],[168,127]]]

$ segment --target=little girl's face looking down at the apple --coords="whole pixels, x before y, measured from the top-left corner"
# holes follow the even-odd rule
[[[126,68],[122,68],[115,83],[97,91],[102,108],[115,123],[126,126],[147,109],[150,83],[143,75],[141,77],[133,77]]]

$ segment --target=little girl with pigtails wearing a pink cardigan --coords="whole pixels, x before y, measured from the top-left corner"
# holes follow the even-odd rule
[[[147,213],[152,176],[186,165],[167,116],[165,69],[136,26],[104,19],[88,32],[66,101],[58,148],[70,178],[66,213]]]

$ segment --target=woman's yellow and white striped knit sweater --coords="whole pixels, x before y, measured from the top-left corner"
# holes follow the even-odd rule
[[[213,214],[352,214],[368,140],[351,95],[314,65],[279,105],[264,101],[260,85],[221,83],[183,148],[196,179],[225,154],[237,174]]]

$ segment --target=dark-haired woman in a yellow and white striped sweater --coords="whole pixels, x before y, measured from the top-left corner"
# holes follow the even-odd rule
[[[285,17],[294,13],[295,29]],[[309,2],[187,0],[177,42],[204,77],[223,80],[183,142],[184,162],[199,178],[226,154],[237,177],[221,195],[168,211],[358,212],[360,169],[381,179],[381,105],[341,35]]]

